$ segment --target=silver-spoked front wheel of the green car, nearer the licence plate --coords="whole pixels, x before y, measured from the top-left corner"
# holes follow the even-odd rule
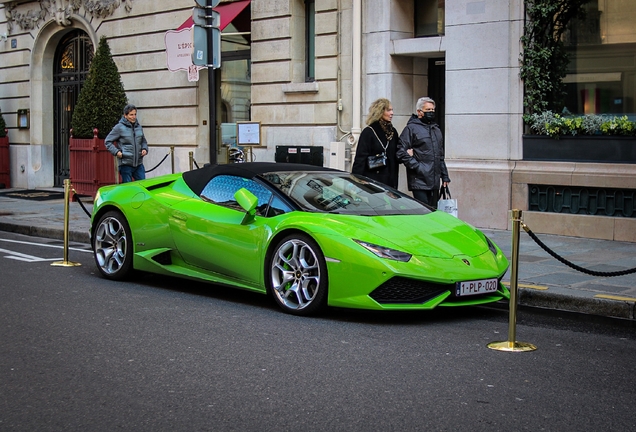
[[[327,266],[320,247],[303,234],[282,239],[269,262],[269,288],[276,303],[294,315],[311,315],[327,302]]]

